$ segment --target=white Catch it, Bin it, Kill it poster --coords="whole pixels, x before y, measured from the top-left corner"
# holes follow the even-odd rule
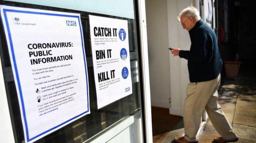
[[[89,15],[97,106],[132,94],[127,20]]]

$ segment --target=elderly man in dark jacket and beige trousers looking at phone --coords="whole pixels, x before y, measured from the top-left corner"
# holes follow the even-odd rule
[[[218,50],[216,35],[206,23],[201,20],[195,7],[187,7],[178,20],[183,29],[189,31],[190,50],[175,48],[173,56],[188,60],[189,80],[187,97],[184,102],[184,136],[178,136],[178,143],[198,142],[196,138],[201,123],[201,113],[206,109],[214,128],[221,137],[214,139],[217,143],[237,141],[225,115],[218,104],[218,88],[220,86],[220,70],[222,61]]]

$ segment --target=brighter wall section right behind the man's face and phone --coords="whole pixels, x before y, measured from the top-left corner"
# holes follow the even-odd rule
[[[189,32],[184,30],[177,15],[195,0],[167,0],[168,10],[168,34],[170,47],[178,47],[182,50],[190,49]],[[170,54],[170,82],[171,82],[171,108],[170,114],[183,116],[183,104],[186,98],[189,72],[187,60],[173,57]]]

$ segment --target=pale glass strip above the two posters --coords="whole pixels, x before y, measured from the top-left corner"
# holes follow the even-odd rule
[[[132,0],[8,0],[134,19]]]

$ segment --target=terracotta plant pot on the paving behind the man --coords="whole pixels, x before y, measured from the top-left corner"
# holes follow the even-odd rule
[[[241,61],[225,61],[225,72],[227,77],[237,77]]]

